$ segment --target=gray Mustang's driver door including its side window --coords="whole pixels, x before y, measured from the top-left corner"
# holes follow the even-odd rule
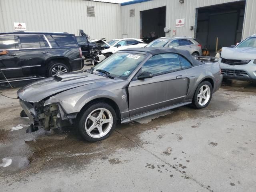
[[[138,80],[147,71],[152,78]],[[177,54],[159,54],[149,58],[129,85],[129,113],[133,116],[183,102],[188,78]]]

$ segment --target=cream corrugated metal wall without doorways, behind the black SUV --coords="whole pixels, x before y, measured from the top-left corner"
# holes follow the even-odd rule
[[[91,0],[0,0],[0,32],[14,31],[14,22],[27,31],[84,30],[92,39],[121,38],[120,4]]]

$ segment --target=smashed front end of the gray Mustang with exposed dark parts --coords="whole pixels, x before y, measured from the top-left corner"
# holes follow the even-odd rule
[[[67,115],[58,104],[49,104],[44,106],[44,101],[30,103],[20,99],[20,105],[31,122],[30,129],[38,130],[39,127],[44,130],[60,128],[62,126],[73,124],[73,118],[76,114]]]

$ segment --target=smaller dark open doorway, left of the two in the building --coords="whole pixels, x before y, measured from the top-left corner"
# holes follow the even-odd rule
[[[152,41],[164,37],[166,6],[140,12],[140,38]]]

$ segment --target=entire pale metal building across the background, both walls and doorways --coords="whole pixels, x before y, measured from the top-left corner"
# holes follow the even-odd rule
[[[256,0],[0,0],[0,32],[69,32],[91,38],[191,36],[203,47],[229,46],[256,33]],[[164,28],[169,28],[164,32]]]

